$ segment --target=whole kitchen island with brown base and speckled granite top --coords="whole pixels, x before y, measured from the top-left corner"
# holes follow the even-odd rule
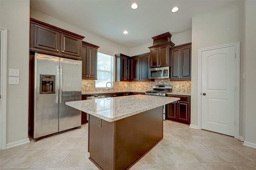
[[[163,105],[180,98],[132,95],[66,102],[88,113],[89,159],[100,169],[124,170],[163,138]]]

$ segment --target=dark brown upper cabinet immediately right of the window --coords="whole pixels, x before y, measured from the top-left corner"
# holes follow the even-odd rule
[[[130,57],[116,54],[116,81],[130,81]]]

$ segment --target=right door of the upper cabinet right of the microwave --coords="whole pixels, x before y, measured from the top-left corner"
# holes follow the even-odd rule
[[[191,45],[181,48],[181,79],[191,78]]]

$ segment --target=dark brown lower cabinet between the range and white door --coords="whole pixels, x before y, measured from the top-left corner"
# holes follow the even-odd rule
[[[168,95],[168,97],[178,97],[180,100],[167,105],[167,118],[190,124],[190,96]]]

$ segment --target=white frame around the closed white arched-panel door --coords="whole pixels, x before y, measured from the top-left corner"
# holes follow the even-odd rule
[[[201,129],[201,104],[202,104],[202,52],[212,49],[225,48],[225,47],[235,47],[235,138],[240,138],[239,136],[239,123],[240,123],[240,42],[227,43],[223,45],[216,45],[213,47],[206,47],[198,49],[198,115],[197,115],[197,128]]]

